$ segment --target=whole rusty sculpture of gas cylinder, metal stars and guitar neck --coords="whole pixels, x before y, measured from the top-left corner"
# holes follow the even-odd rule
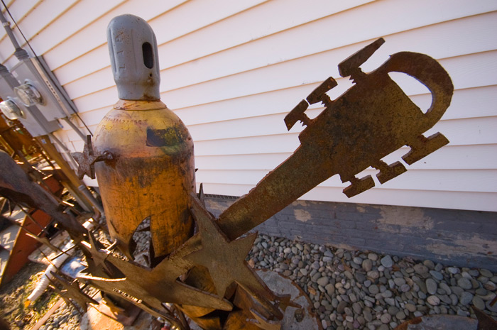
[[[326,92],[337,82],[329,77],[290,111],[288,129],[297,121],[307,126],[300,147],[215,219],[195,194],[190,134],[159,100],[153,31],[141,18],[124,15],[111,21],[108,38],[121,101],[99,124],[94,151],[89,139],[77,160],[80,175],[92,175],[95,163],[109,231],[130,260],[102,251],[89,234],[84,246],[92,262],[82,279],[180,329],[186,329],[185,322],[165,303],[175,304],[204,329],[279,329],[292,303],[268,290],[246,265],[255,235],[240,236],[335,174],[351,182],[344,193],[353,197],[374,186],[370,176],[355,176],[368,166],[380,170],[381,183],[405,172],[400,162],[381,160],[394,150],[410,146],[403,160],[412,164],[448,143],[440,133],[422,135],[450,104],[453,86],[447,72],[427,55],[403,52],[366,74],[360,65],[384,42],[378,39],[340,63],[340,75],[350,76],[354,87],[331,100]],[[423,114],[388,72],[404,72],[425,84],[432,92],[430,109]],[[305,110],[317,102],[325,109],[309,119]],[[131,260],[131,237],[148,217],[153,268]]]

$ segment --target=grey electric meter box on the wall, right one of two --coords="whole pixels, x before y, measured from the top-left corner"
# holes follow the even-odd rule
[[[70,117],[76,106],[60,86],[43,57],[22,59],[12,70],[20,86],[16,96],[25,106],[36,106],[48,121]]]

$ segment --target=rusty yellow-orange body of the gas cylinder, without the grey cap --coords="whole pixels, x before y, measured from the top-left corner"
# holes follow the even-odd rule
[[[156,257],[192,235],[193,141],[163,102],[118,101],[95,131],[94,150],[113,158],[96,163],[95,174],[109,233],[121,251],[132,255],[133,233],[147,218]]]

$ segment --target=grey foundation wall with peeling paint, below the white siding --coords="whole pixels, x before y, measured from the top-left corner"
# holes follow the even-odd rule
[[[235,199],[208,195],[206,204],[219,216]],[[296,201],[256,230],[297,241],[496,271],[496,215],[485,211]]]

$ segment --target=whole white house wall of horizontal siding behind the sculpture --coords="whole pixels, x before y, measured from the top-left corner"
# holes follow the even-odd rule
[[[285,114],[329,76],[351,87],[337,64],[376,38],[386,43],[368,72],[398,51],[437,59],[454,82],[452,105],[427,132],[449,145],[384,185],[347,199],[335,176],[302,199],[404,207],[497,211],[497,2],[494,0],[13,0],[18,26],[43,55],[90,130],[117,101],[106,41],[114,16],[133,13],[157,35],[161,96],[195,141],[197,182],[207,194],[240,196],[298,145]],[[21,41],[17,29],[14,31]],[[26,48],[26,50],[28,50]],[[0,31],[0,62],[17,59]],[[427,108],[430,94],[398,78]],[[311,107],[310,116],[322,107]],[[82,122],[78,126],[84,130]],[[72,151],[80,136],[62,123],[55,133]],[[296,125],[299,126],[299,125]],[[401,148],[386,157],[399,160]],[[363,174],[375,174],[368,169]],[[298,175],[298,173],[296,173]],[[87,180],[87,179],[86,179]],[[96,182],[89,182],[96,185]]]

